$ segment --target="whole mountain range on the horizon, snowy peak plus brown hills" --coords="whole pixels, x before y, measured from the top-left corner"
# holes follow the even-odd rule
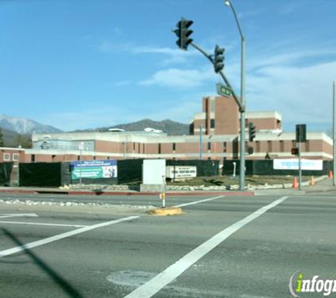
[[[158,129],[170,136],[181,136],[189,134],[189,125],[180,122],[171,121],[169,119],[163,121],[153,121],[151,119],[143,119],[126,124],[118,124],[115,126],[105,126],[97,129],[76,130],[84,131],[108,131],[109,129],[124,129],[125,131],[143,131],[150,127],[151,129]],[[40,124],[30,119],[20,117],[9,117],[0,115],[0,128],[4,138],[5,147],[28,148],[31,144],[31,133],[62,133],[61,129],[54,126]]]

